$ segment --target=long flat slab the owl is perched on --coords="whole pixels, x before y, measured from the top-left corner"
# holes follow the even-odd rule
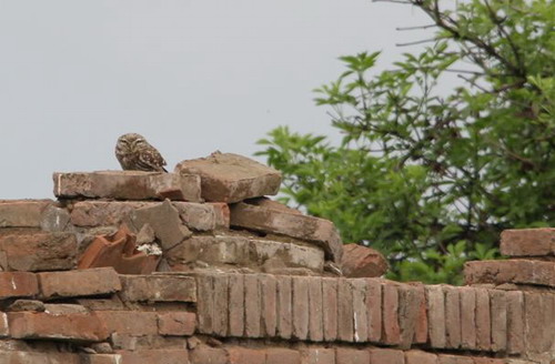
[[[186,173],[57,172],[52,178],[57,198],[201,201],[200,178]]]

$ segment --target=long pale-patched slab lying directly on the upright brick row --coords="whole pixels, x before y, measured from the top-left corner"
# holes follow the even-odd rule
[[[279,260],[283,266],[306,267],[322,272],[324,252],[317,246],[251,239],[245,236],[192,236],[167,253],[171,263],[196,261],[238,266],[262,266],[268,260]]]

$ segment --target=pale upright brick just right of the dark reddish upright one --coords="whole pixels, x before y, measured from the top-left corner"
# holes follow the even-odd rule
[[[445,295],[441,285],[426,286],[427,316],[430,344],[432,347],[443,348],[446,344],[445,335]]]

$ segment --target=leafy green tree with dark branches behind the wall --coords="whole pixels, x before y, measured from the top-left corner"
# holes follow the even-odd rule
[[[341,145],[278,128],[258,154],[283,172],[283,200],[381,250],[393,277],[457,284],[465,261],[498,255],[502,230],[555,224],[555,3],[405,2],[435,24],[423,53],[380,73],[379,52],[341,57],[316,90]]]

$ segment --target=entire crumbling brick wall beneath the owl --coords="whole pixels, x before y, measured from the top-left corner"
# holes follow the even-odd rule
[[[470,263],[468,286],[364,277],[386,264],[360,246],[340,277],[333,224],[262,198],[280,181],[214,153],[0,201],[0,364],[555,361],[553,229],[505,232],[514,259]]]

